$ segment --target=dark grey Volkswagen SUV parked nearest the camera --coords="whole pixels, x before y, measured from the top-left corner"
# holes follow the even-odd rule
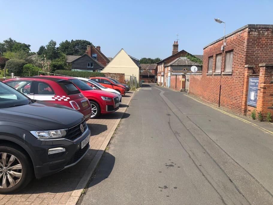
[[[88,152],[82,113],[35,101],[0,82],[0,193],[77,164]]]

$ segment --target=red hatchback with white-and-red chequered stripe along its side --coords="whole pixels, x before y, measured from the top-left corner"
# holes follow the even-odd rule
[[[43,76],[11,78],[3,81],[33,100],[57,103],[78,110],[90,119],[90,103],[69,80]]]

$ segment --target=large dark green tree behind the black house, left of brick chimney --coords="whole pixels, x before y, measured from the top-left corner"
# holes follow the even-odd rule
[[[83,55],[88,45],[93,45],[90,41],[86,40],[71,40],[62,41],[58,50],[65,55]]]

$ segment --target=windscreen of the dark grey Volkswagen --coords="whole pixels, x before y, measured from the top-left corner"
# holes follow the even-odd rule
[[[0,108],[27,105],[30,102],[28,97],[0,82]]]

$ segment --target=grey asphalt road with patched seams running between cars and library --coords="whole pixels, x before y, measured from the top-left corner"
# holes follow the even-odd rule
[[[79,204],[273,204],[264,124],[184,94],[155,85],[135,93]]]

